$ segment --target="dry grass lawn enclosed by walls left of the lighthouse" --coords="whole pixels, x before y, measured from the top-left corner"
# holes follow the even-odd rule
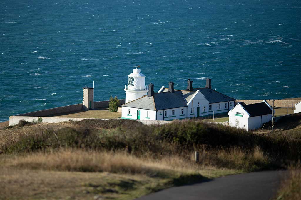
[[[74,118],[96,118],[96,119],[117,119],[121,118],[120,112],[109,112],[108,108],[98,110],[80,110],[76,112],[61,113],[49,117],[74,117]]]

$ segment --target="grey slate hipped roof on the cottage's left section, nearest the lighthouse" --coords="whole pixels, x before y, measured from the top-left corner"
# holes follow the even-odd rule
[[[152,97],[145,95],[139,99],[123,104],[122,106],[147,110],[164,110],[185,107],[187,106],[187,103],[185,98],[183,98],[182,91],[177,90],[175,93],[155,93]]]

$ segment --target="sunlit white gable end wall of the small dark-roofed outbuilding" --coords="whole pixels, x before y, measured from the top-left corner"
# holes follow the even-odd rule
[[[241,113],[240,115],[242,116],[236,116],[237,112],[240,112]],[[228,115],[229,115],[229,126],[248,130],[249,115],[240,104],[237,104],[237,106],[234,109],[228,112]]]

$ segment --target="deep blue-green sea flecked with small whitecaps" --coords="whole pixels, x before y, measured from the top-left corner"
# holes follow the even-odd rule
[[[301,96],[299,0],[2,0],[0,122],[117,96],[140,65],[155,91],[204,87],[236,99]]]

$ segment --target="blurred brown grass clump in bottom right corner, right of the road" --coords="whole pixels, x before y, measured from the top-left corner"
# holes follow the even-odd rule
[[[288,177],[283,181],[277,200],[301,199],[301,165],[290,168]]]

